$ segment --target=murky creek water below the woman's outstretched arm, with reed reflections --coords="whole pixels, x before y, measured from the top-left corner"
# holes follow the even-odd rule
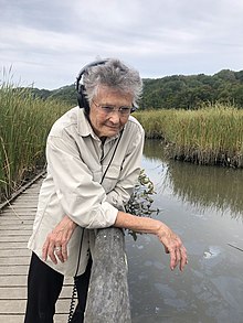
[[[182,239],[183,272],[155,236],[126,236],[133,323],[243,322],[243,171],[168,160],[159,141],[145,144],[142,168],[155,208]],[[240,248],[240,249],[237,249]]]

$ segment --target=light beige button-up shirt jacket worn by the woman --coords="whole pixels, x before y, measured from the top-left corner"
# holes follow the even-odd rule
[[[107,138],[103,144],[94,133],[84,110],[75,107],[52,127],[46,143],[47,175],[43,181],[33,234],[28,247],[40,258],[47,234],[67,215],[76,227],[68,241],[66,262],[46,263],[73,277],[85,271],[95,241],[95,229],[112,226],[133,193],[140,171],[144,129],[130,116],[122,138]],[[119,143],[116,148],[116,143]],[[102,184],[114,150],[116,152]],[[82,238],[83,236],[83,238]]]

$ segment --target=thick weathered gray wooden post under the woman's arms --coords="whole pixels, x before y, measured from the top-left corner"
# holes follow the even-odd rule
[[[131,322],[122,229],[112,227],[98,230],[84,322]]]

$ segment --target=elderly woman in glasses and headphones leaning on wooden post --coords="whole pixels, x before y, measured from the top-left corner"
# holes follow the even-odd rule
[[[170,268],[187,263],[180,238],[157,219],[125,212],[140,172],[144,129],[130,116],[141,79],[118,60],[85,66],[76,83],[78,106],[52,127],[28,278],[25,323],[51,323],[64,276],[78,294],[72,322],[83,322],[97,228],[152,234],[170,254]]]

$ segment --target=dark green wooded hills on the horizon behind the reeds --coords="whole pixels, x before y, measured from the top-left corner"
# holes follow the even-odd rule
[[[32,88],[34,96],[53,98],[76,105],[74,85],[54,90]],[[198,109],[203,103],[231,104],[243,108],[243,71],[222,69],[210,76],[172,75],[162,78],[145,78],[141,109]]]

